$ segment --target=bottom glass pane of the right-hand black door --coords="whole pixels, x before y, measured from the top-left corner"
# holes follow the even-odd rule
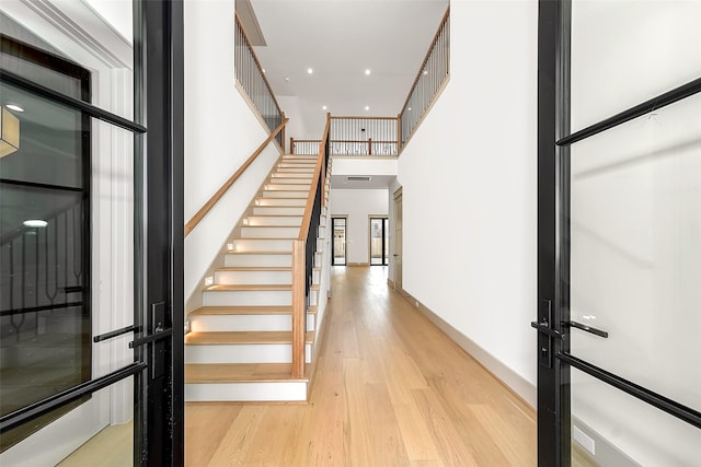
[[[572,369],[572,465],[697,466],[701,430]]]

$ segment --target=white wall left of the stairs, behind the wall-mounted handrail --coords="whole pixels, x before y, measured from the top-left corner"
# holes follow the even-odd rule
[[[267,132],[234,86],[233,2],[184,3],[185,222],[265,140]],[[275,144],[256,159],[185,238],[185,299],[217,257],[277,160]]]

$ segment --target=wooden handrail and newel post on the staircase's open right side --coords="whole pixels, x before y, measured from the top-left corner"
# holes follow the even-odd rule
[[[307,197],[307,205],[304,207],[304,215],[302,223],[299,227],[299,235],[297,240],[292,241],[292,369],[291,377],[301,378],[304,375],[304,331],[307,313],[304,306],[304,281],[307,280],[307,258],[306,258],[306,245],[309,234],[309,226],[311,224],[312,211],[314,208],[314,199],[317,196],[317,188],[320,183],[325,182],[325,159],[326,159],[326,140],[329,139],[329,130],[331,126],[331,115],[326,114],[326,127],[319,144],[319,156],[317,157],[317,164],[314,165],[314,172],[312,176],[312,183],[309,187],[309,196]],[[325,205],[325,190],[321,190],[321,202]]]

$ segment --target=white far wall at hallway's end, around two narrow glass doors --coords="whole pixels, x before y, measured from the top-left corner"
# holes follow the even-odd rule
[[[369,215],[387,215],[387,189],[332,189],[331,215],[347,215],[346,262],[370,262]]]

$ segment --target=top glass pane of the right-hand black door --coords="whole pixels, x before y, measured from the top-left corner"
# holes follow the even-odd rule
[[[701,77],[701,2],[572,4],[572,131]]]

